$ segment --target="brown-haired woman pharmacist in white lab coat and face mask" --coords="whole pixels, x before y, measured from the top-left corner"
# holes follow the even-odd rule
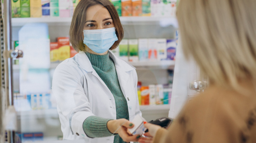
[[[123,38],[114,5],[109,0],[81,0],[69,37],[79,53],[56,67],[52,86],[63,139],[95,143],[138,140],[139,136],[127,132],[134,126],[129,120],[141,115],[137,73],[110,51]]]

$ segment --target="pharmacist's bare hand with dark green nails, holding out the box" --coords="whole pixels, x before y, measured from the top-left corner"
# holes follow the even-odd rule
[[[116,120],[109,120],[107,122],[107,128],[112,134],[118,134],[123,141],[130,142],[130,141],[138,141],[140,135],[132,135],[128,128],[133,128],[134,124],[127,119],[116,119]]]

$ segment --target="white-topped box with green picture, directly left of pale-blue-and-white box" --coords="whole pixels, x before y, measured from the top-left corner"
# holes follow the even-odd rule
[[[130,62],[138,62],[139,55],[138,55],[138,39],[129,39],[129,61]]]

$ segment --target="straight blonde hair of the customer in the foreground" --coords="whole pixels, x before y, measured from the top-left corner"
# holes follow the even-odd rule
[[[184,55],[210,83],[237,88],[256,79],[256,0],[181,0],[177,8]]]

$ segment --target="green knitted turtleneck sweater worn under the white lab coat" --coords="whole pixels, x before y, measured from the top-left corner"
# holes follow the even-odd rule
[[[99,77],[104,81],[106,86],[109,88],[114,96],[116,103],[117,119],[128,119],[128,106],[126,99],[122,93],[119,81],[117,78],[117,71],[113,60],[109,57],[109,53],[106,55],[95,55],[86,52],[94,70],[97,72]],[[107,128],[107,122],[110,119],[105,119],[97,116],[90,116],[84,120],[83,129],[89,137],[106,137],[111,136]],[[124,143],[119,135],[114,138],[114,143]]]

